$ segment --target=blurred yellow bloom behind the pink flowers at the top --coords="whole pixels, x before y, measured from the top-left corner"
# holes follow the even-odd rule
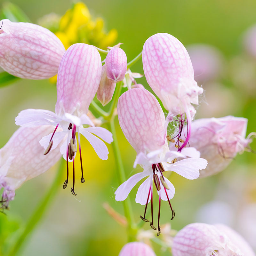
[[[45,19],[48,16],[45,16]],[[56,19],[55,19],[56,20]],[[45,23],[44,18],[40,20]],[[87,6],[78,2],[60,17],[59,28],[52,31],[64,44],[65,48],[76,43],[86,43],[106,49],[112,46],[117,39],[116,29],[111,29],[108,33],[104,31],[104,20],[102,18],[92,19]],[[57,76],[53,76],[50,82],[56,83]]]

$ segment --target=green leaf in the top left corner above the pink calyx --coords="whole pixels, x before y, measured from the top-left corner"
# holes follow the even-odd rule
[[[15,4],[5,2],[0,11],[0,20],[8,19],[12,22],[31,22],[28,16]]]

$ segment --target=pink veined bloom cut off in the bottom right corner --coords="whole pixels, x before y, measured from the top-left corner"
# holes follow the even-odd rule
[[[255,256],[249,244],[225,225],[192,223],[173,239],[173,256]]]

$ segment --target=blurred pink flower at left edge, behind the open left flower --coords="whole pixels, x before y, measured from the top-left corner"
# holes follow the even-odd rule
[[[60,147],[45,156],[38,142],[53,130],[52,125],[20,127],[0,149],[0,189],[4,188],[0,208],[8,207],[9,201],[14,199],[15,189],[23,182],[47,171],[60,159]]]

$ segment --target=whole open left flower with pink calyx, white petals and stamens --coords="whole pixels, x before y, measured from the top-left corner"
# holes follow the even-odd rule
[[[57,103],[55,112],[42,109],[23,110],[16,117],[16,124],[33,127],[42,124],[52,124],[61,127],[61,132],[54,131],[40,140],[45,148],[45,154],[56,148],[61,142],[60,152],[67,160],[67,179],[63,188],[68,184],[68,159],[73,161],[73,187],[75,186],[75,155],[76,132],[78,133],[79,154],[81,162],[81,182],[84,183],[80,133],[91,143],[97,155],[108,159],[108,148],[102,140],[113,141],[112,134],[102,127],[94,127],[88,113],[89,105],[98,90],[101,75],[101,60],[99,52],[88,44],[73,44],[63,55],[57,79]],[[83,124],[89,126],[84,128]],[[98,137],[102,140],[100,140]]]

